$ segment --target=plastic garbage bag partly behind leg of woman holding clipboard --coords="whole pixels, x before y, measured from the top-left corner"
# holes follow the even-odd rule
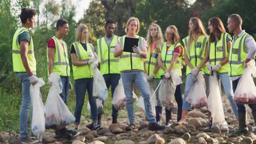
[[[132,92],[133,102],[138,100],[137,95]],[[123,110],[126,105],[126,97],[124,93],[124,87],[122,79],[119,80],[117,87],[115,87],[115,91],[112,98],[112,105],[114,105],[115,109]]]

